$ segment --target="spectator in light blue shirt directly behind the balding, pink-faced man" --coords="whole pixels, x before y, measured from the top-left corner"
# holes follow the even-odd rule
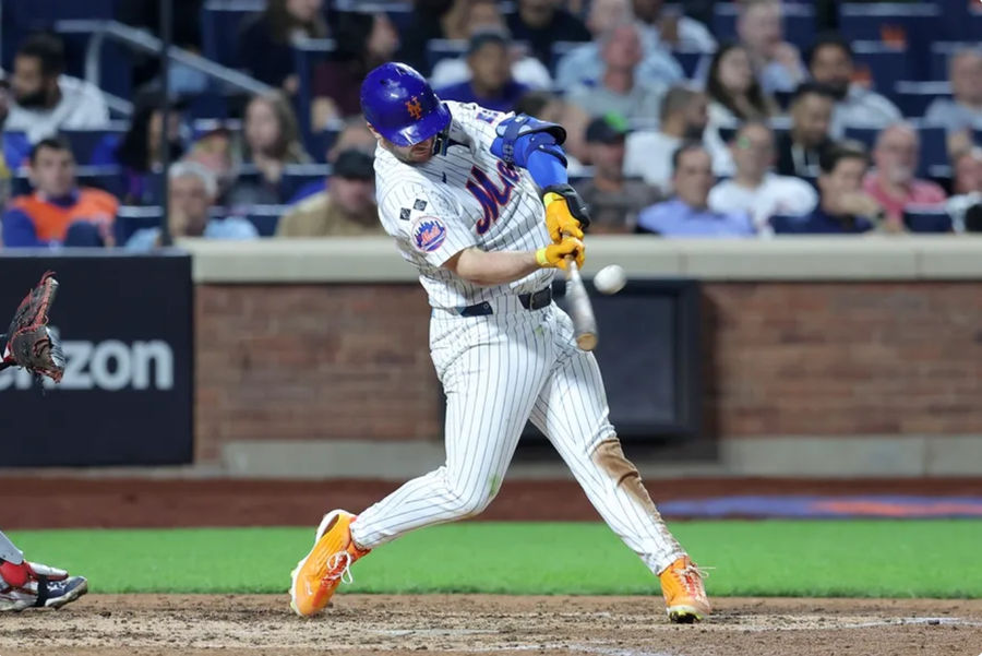
[[[575,84],[595,83],[603,75],[601,47],[611,29],[631,23],[634,15],[628,0],[594,0],[587,27],[594,40],[576,46],[559,60],[555,69],[556,86],[570,88]],[[666,50],[658,38],[640,28],[643,58],[634,74],[638,80],[657,85],[671,84],[684,79],[682,67]]]

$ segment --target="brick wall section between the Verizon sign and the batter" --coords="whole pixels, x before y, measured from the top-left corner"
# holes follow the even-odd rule
[[[441,434],[418,285],[199,285],[194,325],[199,462],[229,440]]]

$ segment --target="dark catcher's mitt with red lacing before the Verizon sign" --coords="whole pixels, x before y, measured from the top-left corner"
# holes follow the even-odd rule
[[[0,335],[3,358],[0,369],[23,367],[37,375],[47,375],[56,383],[64,373],[64,354],[48,330],[48,310],[55,302],[58,281],[55,272],[47,272],[21,301],[7,335]]]

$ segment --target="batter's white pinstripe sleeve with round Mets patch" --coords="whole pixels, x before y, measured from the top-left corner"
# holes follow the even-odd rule
[[[477,243],[464,213],[424,184],[399,184],[382,198],[379,212],[385,230],[403,250],[434,267]]]

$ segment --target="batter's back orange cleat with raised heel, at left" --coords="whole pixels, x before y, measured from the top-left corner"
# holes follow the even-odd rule
[[[333,510],[321,521],[313,549],[290,572],[290,608],[300,617],[312,617],[327,607],[342,581],[351,583],[351,564],[367,554],[351,539],[356,515]]]

